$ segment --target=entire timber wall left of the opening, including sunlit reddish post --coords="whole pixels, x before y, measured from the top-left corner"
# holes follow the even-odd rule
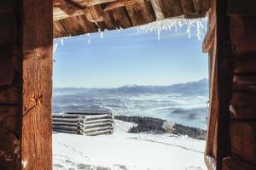
[[[51,165],[52,1],[0,2],[0,169]]]

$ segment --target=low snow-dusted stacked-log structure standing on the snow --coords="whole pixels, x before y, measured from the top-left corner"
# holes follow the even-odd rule
[[[52,129],[61,133],[87,136],[113,133],[113,114],[110,111],[68,111],[53,114]]]

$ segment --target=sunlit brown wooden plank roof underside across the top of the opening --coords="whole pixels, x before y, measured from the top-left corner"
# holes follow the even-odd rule
[[[81,26],[83,22],[80,19],[84,17],[80,16],[83,15],[86,18],[84,23],[92,22],[96,25],[96,30],[100,31],[140,26],[177,16],[186,19],[201,18],[206,16],[209,8],[207,2],[206,0],[55,0],[54,35],[67,37],[74,36],[73,31],[76,31],[76,35],[90,32],[88,30],[91,29],[86,28],[87,25]],[[122,20],[119,20],[121,18]],[[79,23],[72,24],[72,22]],[[75,26],[78,28],[74,29]]]

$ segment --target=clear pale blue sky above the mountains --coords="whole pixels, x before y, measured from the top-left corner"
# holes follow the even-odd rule
[[[203,23],[206,26],[206,22]],[[54,87],[115,88],[127,84],[170,85],[208,77],[207,54],[192,28],[137,32],[136,28],[70,37],[54,59]],[[203,39],[203,38],[202,38]]]

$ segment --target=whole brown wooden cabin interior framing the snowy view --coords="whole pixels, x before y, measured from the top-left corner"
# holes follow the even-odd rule
[[[255,0],[0,2],[0,169],[52,169],[53,39],[208,18],[209,170],[256,169]]]

